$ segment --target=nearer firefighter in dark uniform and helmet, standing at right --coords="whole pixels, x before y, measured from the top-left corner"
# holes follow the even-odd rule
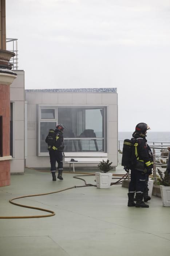
[[[143,202],[143,196],[147,193],[147,177],[152,174],[153,168],[153,155],[149,145],[146,140],[146,133],[149,130],[149,126],[145,123],[137,124],[135,132],[133,133],[133,154],[134,161],[130,166],[131,170],[131,181],[129,184],[128,193],[128,206],[145,207],[148,208],[149,205]],[[134,203],[134,195],[136,192],[136,204]],[[146,196],[146,195],[145,195]],[[149,198],[148,198],[149,200]],[[146,202],[147,200],[145,200]]]

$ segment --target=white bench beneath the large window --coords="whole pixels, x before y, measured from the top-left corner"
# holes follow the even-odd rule
[[[75,172],[75,169],[74,169],[74,165],[76,163],[100,163],[101,161],[107,161],[107,158],[73,158],[75,161],[78,161],[78,162],[71,162],[71,158],[73,157],[70,157],[70,158],[64,158],[64,161],[65,163],[69,163],[70,164],[70,167],[71,167],[71,164],[73,165],[73,172]]]

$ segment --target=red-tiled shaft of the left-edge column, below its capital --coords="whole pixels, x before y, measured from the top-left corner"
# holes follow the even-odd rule
[[[9,156],[10,149],[10,87],[0,84],[0,116],[3,116],[3,157]],[[10,185],[10,162],[0,161],[0,187]]]

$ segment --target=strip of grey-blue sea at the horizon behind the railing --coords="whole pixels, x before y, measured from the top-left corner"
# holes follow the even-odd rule
[[[133,132],[118,132],[118,140],[131,139]],[[170,142],[170,132],[147,132],[148,142]]]

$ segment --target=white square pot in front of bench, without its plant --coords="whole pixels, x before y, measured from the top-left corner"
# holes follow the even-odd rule
[[[112,173],[95,173],[97,188],[110,188]]]

